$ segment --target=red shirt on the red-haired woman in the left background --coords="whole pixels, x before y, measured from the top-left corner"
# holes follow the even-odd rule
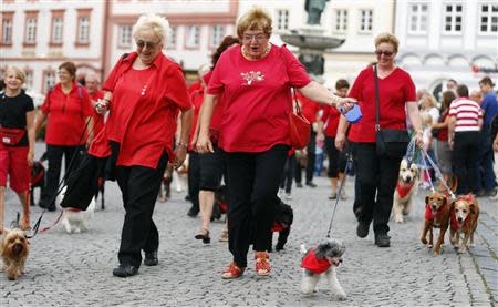
[[[76,146],[86,142],[86,137],[81,135],[93,106],[85,88],[74,82],[71,92],[64,94],[61,83],[55,84],[46,94],[41,110],[48,115],[46,144]]]

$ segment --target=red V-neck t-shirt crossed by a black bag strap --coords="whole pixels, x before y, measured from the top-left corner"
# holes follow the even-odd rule
[[[360,143],[375,142],[375,79],[372,66],[363,70],[349,93],[355,98],[363,117],[354,124],[350,140]],[[416,101],[415,84],[404,70],[396,68],[390,75],[378,79],[380,123],[382,129],[405,129],[405,104]]]

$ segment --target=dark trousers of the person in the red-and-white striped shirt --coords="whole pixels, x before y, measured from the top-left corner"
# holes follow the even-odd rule
[[[479,132],[455,132],[452,164],[458,178],[457,194],[477,194]]]

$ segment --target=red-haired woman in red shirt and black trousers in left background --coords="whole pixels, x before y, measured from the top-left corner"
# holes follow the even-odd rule
[[[46,186],[43,190],[39,205],[49,211],[55,211],[53,196],[58,192],[61,174],[62,156],[65,158],[65,172],[69,171],[71,158],[73,165],[77,165],[76,151],[81,150],[85,142],[90,144],[93,134],[83,135],[93,131],[90,95],[86,89],[76,83],[76,65],[73,62],[64,62],[59,66],[60,83],[49,90],[45,101],[37,117],[35,131],[38,132],[48,119],[45,143],[49,168],[46,170]],[[87,125],[86,125],[86,121]]]

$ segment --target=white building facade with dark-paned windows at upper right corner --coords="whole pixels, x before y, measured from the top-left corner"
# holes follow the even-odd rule
[[[485,0],[398,0],[398,64],[418,88],[439,96],[454,79],[470,90],[498,78],[498,3]],[[496,82],[496,81],[495,81]]]

